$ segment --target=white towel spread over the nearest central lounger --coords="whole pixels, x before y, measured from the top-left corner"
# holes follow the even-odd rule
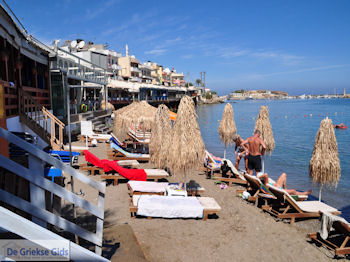
[[[134,196],[136,197],[136,196]],[[163,218],[202,218],[203,206],[196,197],[141,195],[137,215]]]

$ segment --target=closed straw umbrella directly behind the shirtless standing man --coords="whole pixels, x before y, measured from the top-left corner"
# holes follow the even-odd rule
[[[273,138],[272,126],[269,118],[269,109],[267,106],[261,106],[258,118],[255,121],[255,130],[259,130],[261,138],[266,145],[266,152],[272,152],[275,148],[275,139]],[[264,157],[262,161],[262,171],[264,172]]]

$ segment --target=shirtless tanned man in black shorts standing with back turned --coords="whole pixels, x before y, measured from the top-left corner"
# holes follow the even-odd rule
[[[242,143],[242,145],[248,144],[248,173],[253,175],[255,173],[261,172],[261,156],[264,155],[266,145],[264,141],[260,138],[260,131],[255,130],[254,135],[248,137],[246,141]],[[261,150],[260,150],[261,147]]]

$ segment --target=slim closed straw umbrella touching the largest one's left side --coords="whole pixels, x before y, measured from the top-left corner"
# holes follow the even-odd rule
[[[158,106],[149,142],[150,162],[157,168],[166,168],[171,140],[171,121],[166,105]]]

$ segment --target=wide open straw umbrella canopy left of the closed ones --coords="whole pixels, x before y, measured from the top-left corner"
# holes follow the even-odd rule
[[[142,126],[144,131],[151,129],[156,111],[157,108],[146,101],[136,101],[114,111],[113,133],[125,139],[130,126]]]

